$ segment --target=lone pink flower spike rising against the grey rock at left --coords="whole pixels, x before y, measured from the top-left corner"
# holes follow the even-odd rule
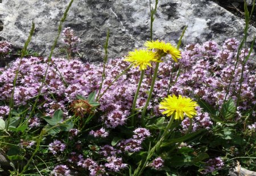
[[[67,45],[69,51],[72,53],[79,51],[79,43],[81,40],[79,37],[75,36],[73,29],[67,27],[62,31],[61,35],[65,37],[62,39],[62,41]]]

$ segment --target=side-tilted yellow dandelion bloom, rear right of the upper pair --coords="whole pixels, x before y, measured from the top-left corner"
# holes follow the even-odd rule
[[[166,43],[164,41],[146,41],[144,44],[148,49],[156,49],[159,50],[160,53],[171,54],[172,59],[177,62],[177,59],[181,58],[180,50],[176,49],[170,43]]]

